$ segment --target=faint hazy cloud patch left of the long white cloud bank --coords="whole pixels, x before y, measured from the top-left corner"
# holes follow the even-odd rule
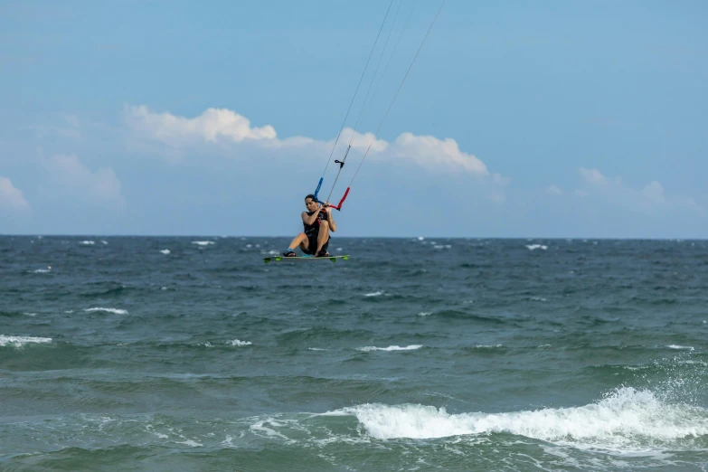
[[[81,164],[76,155],[55,155],[43,159],[52,180],[72,193],[97,198],[101,201],[124,204],[120,181],[111,168],[96,172]]]

